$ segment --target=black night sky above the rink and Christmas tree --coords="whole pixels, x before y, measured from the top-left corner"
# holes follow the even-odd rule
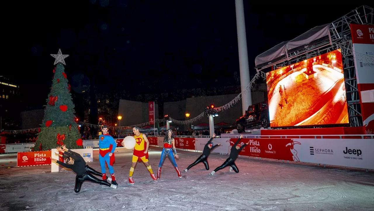
[[[362,4],[309,3],[308,8],[251,2],[244,1],[244,9],[252,76],[258,54]],[[91,85],[105,85],[108,91],[137,95],[239,84],[234,77],[239,75],[234,0],[5,4],[6,71],[1,74],[21,86],[26,106],[45,104],[54,68],[50,54],[59,48],[70,55],[65,59],[70,80],[82,73]]]

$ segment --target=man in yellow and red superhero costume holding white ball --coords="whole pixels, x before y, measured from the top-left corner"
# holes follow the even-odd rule
[[[157,181],[156,176],[154,176],[152,167],[148,162],[148,147],[149,141],[146,135],[139,132],[139,127],[132,128],[132,132],[134,132],[135,138],[135,147],[134,147],[134,154],[132,155],[132,164],[130,168],[129,174],[129,183],[134,184],[134,179],[132,178],[132,174],[134,174],[135,166],[137,166],[138,161],[144,162],[145,166],[147,166],[148,171],[151,174],[151,177],[154,181]]]

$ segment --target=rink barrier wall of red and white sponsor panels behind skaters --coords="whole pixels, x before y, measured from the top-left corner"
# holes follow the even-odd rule
[[[212,143],[221,143],[221,146],[214,149],[212,153],[229,155],[231,147],[239,136],[240,134],[225,134],[225,136],[214,138]],[[163,136],[149,136],[150,146],[163,147],[163,138]],[[209,139],[208,136],[177,136],[175,146],[178,150],[202,152]],[[374,169],[374,162],[371,162],[374,160],[374,153],[371,153],[374,149],[373,139],[373,134],[245,135],[239,144],[249,142],[249,145],[239,153],[239,156],[275,159],[282,160],[282,162],[315,163],[318,166],[363,168],[368,171],[368,169]],[[122,147],[120,144],[122,140],[122,138],[116,139],[117,147]],[[98,148],[98,143],[99,140],[84,140],[83,146]]]

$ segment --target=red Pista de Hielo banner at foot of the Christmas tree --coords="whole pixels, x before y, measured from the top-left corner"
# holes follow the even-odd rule
[[[50,165],[51,151],[18,152],[17,167]]]

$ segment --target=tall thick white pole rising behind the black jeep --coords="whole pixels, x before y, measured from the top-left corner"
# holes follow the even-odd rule
[[[249,83],[249,65],[248,65],[248,51],[247,38],[245,33],[244,7],[243,0],[235,0],[236,11],[236,30],[237,30],[237,45],[239,49],[239,67],[240,67],[240,88],[243,91]],[[252,105],[251,88],[242,95],[242,112],[243,115],[248,106]]]

